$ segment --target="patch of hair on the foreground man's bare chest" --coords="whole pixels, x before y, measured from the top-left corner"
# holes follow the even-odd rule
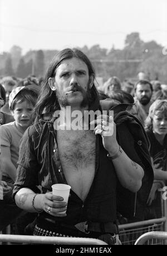
[[[60,131],[58,153],[62,168],[84,170],[95,162],[96,137],[92,131]]]

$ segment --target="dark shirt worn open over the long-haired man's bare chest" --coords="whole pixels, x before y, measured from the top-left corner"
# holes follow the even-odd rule
[[[130,148],[128,151],[132,152],[132,161],[142,165],[140,158],[135,153],[134,140],[125,126],[122,123],[118,128],[126,130],[126,136],[119,138],[120,144],[125,152],[127,148]],[[29,127],[23,135],[13,196],[22,187],[28,187],[37,192],[38,185],[42,186],[42,191],[45,193],[51,191],[51,186],[54,183],[67,182],[58,157],[53,123],[41,122],[40,126],[32,125]],[[55,218],[47,212],[42,212],[40,215],[73,224],[85,220],[99,223],[114,222],[116,220],[116,183],[114,165],[107,158],[101,136],[97,136],[95,177],[85,202],[71,190],[65,218]]]

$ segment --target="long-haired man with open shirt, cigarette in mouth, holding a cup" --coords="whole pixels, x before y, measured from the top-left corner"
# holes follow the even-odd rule
[[[48,68],[36,122],[22,138],[13,191],[17,206],[39,212],[33,235],[99,238],[116,244],[116,183],[119,180],[133,194],[142,185],[147,170],[131,144],[134,140],[126,127],[121,143],[117,141],[120,128],[112,115],[102,112],[94,79],[90,60],[77,49],[58,52]],[[76,112],[84,118],[85,110],[100,113],[91,122],[84,119],[89,129],[82,122],[75,129]],[[64,123],[59,123],[57,111],[64,114]],[[52,194],[55,183],[71,186],[68,204]]]

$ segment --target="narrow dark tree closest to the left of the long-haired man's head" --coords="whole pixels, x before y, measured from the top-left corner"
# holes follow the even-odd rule
[[[43,76],[44,71],[44,54],[42,50],[36,52],[35,56],[35,75]]]

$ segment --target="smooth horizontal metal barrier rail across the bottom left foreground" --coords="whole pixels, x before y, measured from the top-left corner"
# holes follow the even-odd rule
[[[104,241],[94,238],[66,238],[58,236],[33,236],[33,235],[1,235],[0,241],[4,243],[26,244],[71,244],[71,245],[107,245]]]

